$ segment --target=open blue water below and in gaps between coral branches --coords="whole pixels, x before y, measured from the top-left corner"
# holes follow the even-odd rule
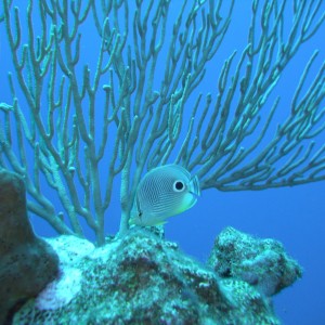
[[[226,41],[208,65],[206,79],[199,89],[203,93],[216,94],[218,72],[222,62],[234,49],[242,49],[246,44],[245,35],[250,20],[248,2],[250,1],[237,3]],[[26,2],[22,4],[22,11],[25,10],[25,5]],[[0,28],[0,102],[10,102],[6,74],[11,66],[11,53],[3,42],[3,25]],[[324,35],[323,26],[322,30],[301,48],[297,57],[286,69],[281,86],[276,88],[275,95],[280,95],[282,100],[275,122],[286,117],[288,112],[286,107],[290,103],[295,86],[315,49],[321,51],[316,62],[318,66],[324,61]],[[83,40],[91,44],[91,35],[84,34]],[[90,49],[91,47],[84,48],[84,51]],[[164,72],[164,66],[161,66],[161,72]],[[187,105],[191,105],[191,102]],[[268,105],[271,107],[272,102]],[[318,141],[325,141],[324,133]],[[325,324],[324,185],[324,182],[321,182],[260,192],[205,191],[194,208],[170,219],[166,225],[166,238],[178,242],[184,252],[200,261],[206,261],[214,237],[229,225],[259,237],[270,237],[282,242],[287,252],[303,266],[304,274],[301,281],[275,297],[276,314],[284,324],[288,325]],[[107,217],[109,218],[106,222],[107,234],[114,234],[118,230],[120,216],[118,199],[119,193],[116,192]],[[31,220],[39,235],[54,235],[54,232],[37,217],[31,216]],[[89,236],[91,237],[91,234]]]

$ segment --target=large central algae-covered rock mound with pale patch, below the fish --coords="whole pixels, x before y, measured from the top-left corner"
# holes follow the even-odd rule
[[[60,276],[13,324],[278,324],[271,299],[250,281],[231,271],[220,277],[220,260],[214,272],[144,229],[100,248],[74,236],[48,243]]]

